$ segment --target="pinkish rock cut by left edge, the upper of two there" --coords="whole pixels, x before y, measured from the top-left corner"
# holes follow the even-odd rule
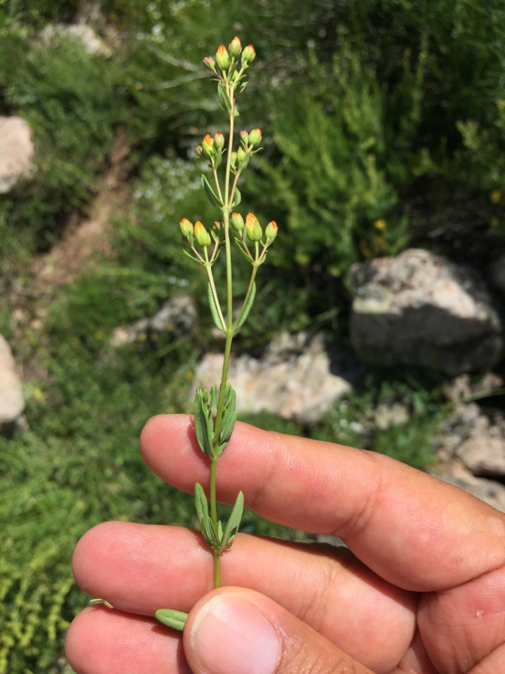
[[[32,130],[21,117],[0,117],[0,194],[10,192],[33,170]]]

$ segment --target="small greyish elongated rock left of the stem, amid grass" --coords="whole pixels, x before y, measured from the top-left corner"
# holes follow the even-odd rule
[[[118,327],[112,333],[110,345],[114,348],[145,339],[147,334],[168,332],[174,338],[189,332],[196,320],[196,307],[189,295],[177,295],[163,304],[159,312],[142,318],[133,325]]]

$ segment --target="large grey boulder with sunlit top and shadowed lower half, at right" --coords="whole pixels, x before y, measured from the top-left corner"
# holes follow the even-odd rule
[[[351,342],[361,361],[462,374],[499,358],[499,314],[468,267],[410,249],[353,265],[349,282]]]

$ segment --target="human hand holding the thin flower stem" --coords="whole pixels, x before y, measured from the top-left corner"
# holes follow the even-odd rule
[[[141,449],[166,482],[206,487],[188,416],[152,418]],[[88,607],[70,626],[77,673],[505,671],[499,511],[386,456],[243,423],[222,456],[217,489],[228,503],[242,489],[263,517],[335,534],[349,550],[238,534],[222,557],[225,587],[209,592],[213,569],[200,534],[99,524],[76,547],[74,575],[118,610]],[[166,606],[189,612],[182,638],[154,620]]]

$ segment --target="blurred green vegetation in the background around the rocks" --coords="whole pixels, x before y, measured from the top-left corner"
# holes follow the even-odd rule
[[[107,56],[42,39],[83,18]],[[86,604],[72,548],[93,524],[195,524],[191,498],[149,473],[137,438],[149,416],[187,411],[208,312],[175,342],[108,344],[166,298],[201,295],[178,222],[214,218],[192,159],[222,124],[201,59],[235,34],[258,54],[241,112],[265,139],[243,201],[281,231],[238,348],[309,327],[345,346],[344,272],[356,260],[416,245],[484,266],[504,244],[502,0],[307,0],[296,12],[284,0],[0,0],[0,114],[32,126],[37,164],[0,197],[0,332],[27,399],[27,428],[0,439],[0,674],[57,670]],[[51,289],[36,260],[88,216],[118,143],[114,253]],[[397,399],[408,423],[362,432],[371,407]],[[422,467],[441,418],[436,385],[386,372],[316,428],[251,421]],[[248,517],[250,530],[292,535]]]

